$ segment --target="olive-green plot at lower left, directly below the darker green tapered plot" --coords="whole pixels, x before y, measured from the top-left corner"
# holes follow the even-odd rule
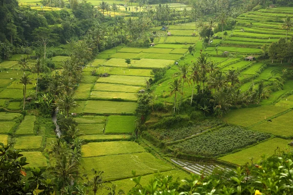
[[[14,141],[16,150],[38,150],[41,148],[42,136],[16,137]]]

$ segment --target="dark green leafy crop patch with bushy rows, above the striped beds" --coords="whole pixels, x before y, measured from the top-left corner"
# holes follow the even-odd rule
[[[186,154],[218,156],[270,137],[269,134],[247,130],[242,127],[226,126],[178,143],[173,148]]]

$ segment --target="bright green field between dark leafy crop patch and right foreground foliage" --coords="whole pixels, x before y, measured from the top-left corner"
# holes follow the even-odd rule
[[[278,153],[277,147],[279,147],[281,151],[292,148],[288,145],[288,140],[273,138],[239,152],[220,157],[219,159],[236,165],[245,165],[247,162],[251,163],[251,157],[253,157],[253,162],[256,163],[261,160],[262,155],[269,157],[274,155],[275,151]]]

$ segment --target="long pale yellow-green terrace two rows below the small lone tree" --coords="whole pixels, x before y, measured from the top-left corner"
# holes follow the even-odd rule
[[[148,80],[148,79],[149,78],[147,78],[147,77],[111,75],[109,77],[101,77],[97,80],[97,82],[98,83],[125,84],[125,85],[133,85],[133,86],[146,86],[146,80]]]

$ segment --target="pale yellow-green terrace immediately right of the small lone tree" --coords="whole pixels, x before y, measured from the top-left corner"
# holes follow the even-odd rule
[[[163,68],[174,63],[174,60],[167,59],[141,59],[135,63],[137,68]]]

